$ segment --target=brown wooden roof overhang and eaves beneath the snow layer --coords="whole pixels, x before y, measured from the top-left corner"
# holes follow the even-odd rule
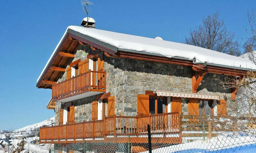
[[[76,42],[76,43],[71,43],[71,42]],[[76,46],[76,47],[73,47],[72,44],[73,46]],[[246,75],[247,71],[256,71],[256,70],[251,70],[247,68],[230,67],[230,66],[225,66],[221,64],[212,64],[212,63],[207,63],[207,66],[203,66],[202,64],[194,63],[193,60],[188,58],[183,58],[178,56],[173,56],[172,58],[169,58],[161,54],[154,54],[154,53],[148,53],[143,51],[125,50],[125,49],[113,46],[111,43],[106,43],[104,41],[101,41],[100,39],[95,39],[89,35],[82,34],[78,31],[74,31],[70,28],[67,28],[61,40],[59,41],[56,48],[54,49],[52,55],[50,56],[48,62],[46,63],[44,69],[39,75],[36,86],[39,88],[41,87],[41,88],[51,89],[52,85],[57,82],[57,79],[61,74],[61,72],[58,72],[56,74],[54,70],[63,70],[64,68],[66,68],[68,59],[72,57],[69,56],[68,58],[64,58],[64,63],[62,64],[60,63],[60,65],[62,65],[62,67],[60,68],[59,67],[54,68],[53,66],[54,62],[60,60],[59,57],[61,52],[64,52],[64,53],[67,52],[67,50],[63,48],[66,47],[66,48],[74,49],[74,48],[77,48],[79,45],[90,46],[91,48],[97,51],[104,51],[105,55],[111,56],[111,57],[132,58],[132,59],[138,59],[138,60],[147,60],[151,62],[191,66],[192,68],[195,67],[193,69],[194,71],[207,71],[215,74],[225,74],[225,75],[234,75],[234,76]],[[76,49],[74,49],[73,52],[67,52],[67,53],[74,54],[75,51]],[[52,74],[49,74],[49,73],[52,73]],[[48,83],[48,85],[42,86],[42,84],[45,85],[44,83]]]

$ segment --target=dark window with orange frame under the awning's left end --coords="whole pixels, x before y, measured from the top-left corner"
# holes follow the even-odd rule
[[[161,114],[167,109],[166,98],[150,97],[149,98],[149,113]]]

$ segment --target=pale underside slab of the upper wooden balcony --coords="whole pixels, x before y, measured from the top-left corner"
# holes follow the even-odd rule
[[[71,101],[74,101],[74,100],[77,100],[77,99],[86,98],[86,97],[90,97],[90,96],[98,95],[98,94],[103,94],[103,93],[105,93],[105,92],[89,91],[89,92],[86,92],[86,93],[77,94],[77,95],[73,95],[73,96],[68,95],[67,98],[56,100],[56,102],[71,102]]]

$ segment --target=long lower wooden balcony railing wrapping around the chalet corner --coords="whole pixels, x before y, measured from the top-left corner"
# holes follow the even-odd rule
[[[140,117],[112,116],[98,121],[40,127],[40,143],[111,142],[111,139],[119,143],[144,143],[148,124],[153,143],[181,143],[178,112]],[[159,137],[163,141],[159,141]]]

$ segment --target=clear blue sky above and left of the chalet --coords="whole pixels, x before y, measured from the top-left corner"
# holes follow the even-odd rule
[[[190,28],[219,11],[241,43],[255,0],[91,0],[96,28],[185,42]],[[54,115],[51,90],[36,80],[67,26],[86,16],[79,0],[0,0],[0,129],[18,129]]]

